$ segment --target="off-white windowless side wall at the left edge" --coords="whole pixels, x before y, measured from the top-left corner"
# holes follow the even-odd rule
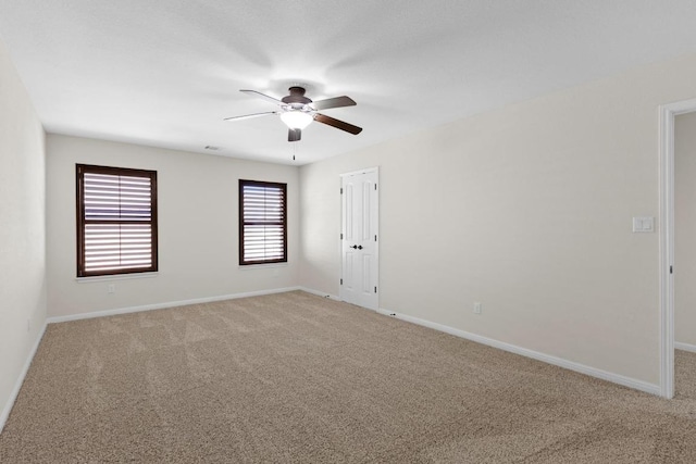
[[[0,42],[0,428],[46,322],[45,159],[44,128]]]

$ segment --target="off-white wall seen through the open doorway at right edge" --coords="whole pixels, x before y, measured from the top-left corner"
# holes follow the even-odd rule
[[[696,347],[696,113],[674,136],[674,338]]]

